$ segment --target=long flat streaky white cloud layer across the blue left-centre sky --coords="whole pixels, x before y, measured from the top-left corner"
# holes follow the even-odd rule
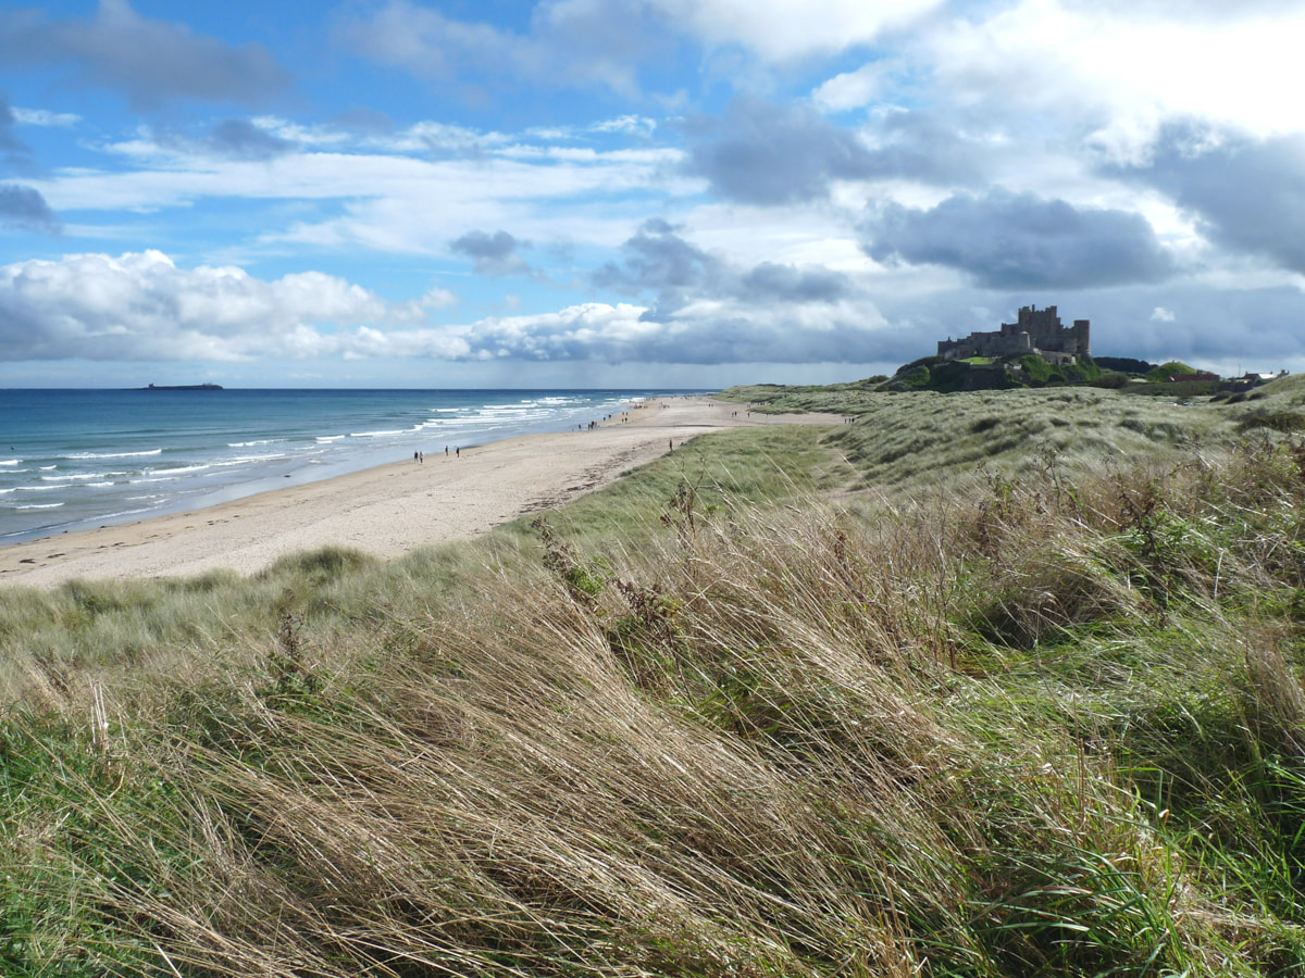
[[[114,149],[136,166],[61,171],[30,183],[56,213],[150,211],[205,200],[343,201],[328,218],[284,211],[287,223],[264,226],[258,241],[418,254],[442,254],[448,241],[484,227],[536,241],[615,244],[646,210],[647,197],[671,197],[694,184],[675,172],[683,154],[658,147],[512,143],[444,159],[363,151],[232,159],[205,154],[200,143],[159,146],[150,138]]]

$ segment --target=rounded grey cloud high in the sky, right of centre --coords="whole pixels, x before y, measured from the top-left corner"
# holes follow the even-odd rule
[[[744,96],[719,121],[696,120],[688,128],[688,172],[744,203],[818,200],[831,180],[872,177],[882,167],[852,133],[805,106]]]

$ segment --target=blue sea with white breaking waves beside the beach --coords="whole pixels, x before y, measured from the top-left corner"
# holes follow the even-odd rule
[[[671,390],[0,390],[0,545],[586,429]]]

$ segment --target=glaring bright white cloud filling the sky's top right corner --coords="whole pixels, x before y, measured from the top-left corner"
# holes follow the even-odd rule
[[[938,80],[962,102],[1095,115],[1098,140],[1118,156],[1138,153],[1172,116],[1259,134],[1305,128],[1297,98],[1305,9],[1235,17],[1022,0],[984,21],[950,21],[925,46]]]

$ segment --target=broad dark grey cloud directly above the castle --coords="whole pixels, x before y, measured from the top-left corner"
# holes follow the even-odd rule
[[[881,205],[860,230],[861,248],[878,262],[942,265],[988,288],[1120,286],[1174,270],[1138,214],[1001,188],[954,194],[932,210]]]

